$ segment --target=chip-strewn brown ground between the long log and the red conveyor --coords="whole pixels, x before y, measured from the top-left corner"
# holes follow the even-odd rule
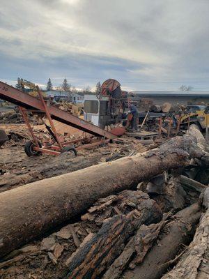
[[[40,130],[40,126],[37,127]],[[134,150],[146,151],[137,140],[126,139],[125,144],[112,143],[80,150],[77,157],[69,152],[60,156],[43,154],[28,157],[24,152],[24,143],[29,139],[29,134],[25,131],[24,124],[6,124],[1,128],[14,135],[13,139],[0,147],[0,193],[26,183],[96,165],[107,158],[111,160],[111,156],[127,156]]]

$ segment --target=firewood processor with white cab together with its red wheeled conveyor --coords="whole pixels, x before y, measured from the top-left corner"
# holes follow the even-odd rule
[[[96,145],[107,143],[125,132],[124,128],[113,128],[111,131],[104,130],[110,124],[118,123],[123,117],[127,103],[127,92],[121,91],[121,84],[113,79],[106,80],[101,86],[100,93],[91,100],[86,96],[84,100],[84,119],[80,119],[59,108],[50,105],[37,86],[38,97],[15,89],[0,81],[0,98],[18,105],[26,126],[31,134],[31,140],[26,142],[24,149],[28,156],[39,156],[42,153],[59,155],[64,151],[72,151],[77,154],[79,149],[91,148]],[[93,95],[92,95],[93,96]],[[42,144],[36,137],[33,127],[29,122],[28,112],[45,115],[50,126],[46,126],[54,142]],[[75,146],[78,142],[85,142],[85,138],[65,142],[61,140],[53,123],[53,119],[75,127],[96,137],[90,144]]]

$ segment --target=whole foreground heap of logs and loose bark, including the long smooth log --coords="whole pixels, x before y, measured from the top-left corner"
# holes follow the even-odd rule
[[[208,278],[206,141],[131,145],[0,194],[1,278]]]

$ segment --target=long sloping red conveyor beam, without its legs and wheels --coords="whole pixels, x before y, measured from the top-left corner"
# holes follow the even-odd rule
[[[29,94],[15,89],[13,86],[9,86],[3,82],[0,82],[0,98],[8,100],[10,103],[15,105],[20,105],[28,110],[44,111],[41,100],[38,100],[38,98],[30,96]],[[68,112],[59,110],[57,107],[53,107],[51,105],[48,107],[48,110],[52,119],[60,121],[61,123],[83,130],[91,135],[106,137],[107,139],[116,138],[115,135],[107,132],[106,130],[84,121],[83,119],[79,119],[77,116],[73,116]]]

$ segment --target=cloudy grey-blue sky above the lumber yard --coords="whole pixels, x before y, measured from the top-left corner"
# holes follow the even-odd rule
[[[0,80],[209,90],[208,0],[1,0]]]

